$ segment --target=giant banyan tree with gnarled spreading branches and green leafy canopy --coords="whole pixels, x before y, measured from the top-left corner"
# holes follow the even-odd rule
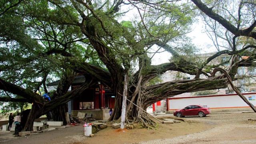
[[[118,120],[121,94],[146,110],[185,92],[226,88],[237,79],[239,67],[255,66],[253,0],[2,0],[0,6],[0,101],[32,103],[24,131],[33,130],[34,119],[49,111],[64,119],[66,102],[97,81],[116,94],[110,120]],[[197,47],[186,34],[198,19],[217,52],[195,60]],[[153,65],[163,51],[172,55],[170,62]],[[230,56],[230,66],[220,69],[212,60],[223,54]],[[195,78],[149,84],[166,71]],[[86,82],[67,92],[76,74]],[[45,102],[40,92],[47,92],[53,77],[60,82]],[[126,104],[126,122],[156,126],[142,110]]]

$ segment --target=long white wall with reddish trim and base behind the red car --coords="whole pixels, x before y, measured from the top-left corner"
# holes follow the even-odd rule
[[[243,94],[249,102],[256,106],[256,93]],[[223,94],[210,96],[193,96],[168,98],[168,111],[185,108],[189,105],[206,105],[212,112],[232,112],[251,110],[251,108],[237,94]]]

